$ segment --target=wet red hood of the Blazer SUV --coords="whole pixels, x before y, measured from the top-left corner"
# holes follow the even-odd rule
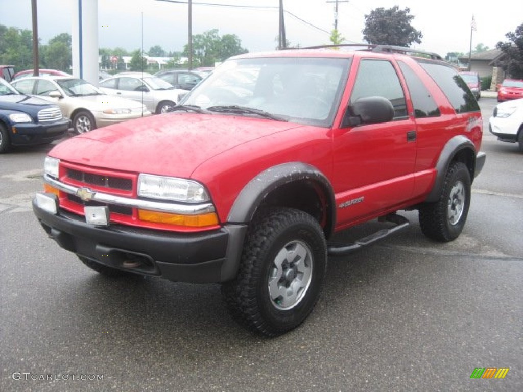
[[[99,168],[190,178],[208,159],[303,125],[221,114],[166,113],[73,137],[49,155]]]

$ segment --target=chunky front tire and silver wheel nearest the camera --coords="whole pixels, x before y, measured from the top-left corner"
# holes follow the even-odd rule
[[[283,208],[259,213],[236,278],[222,285],[231,315],[269,337],[298,327],[320,296],[326,260],[325,236],[312,216]]]

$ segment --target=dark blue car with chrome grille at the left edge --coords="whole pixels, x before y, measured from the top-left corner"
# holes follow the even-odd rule
[[[61,139],[70,124],[58,106],[20,94],[0,78],[0,153],[13,145],[46,144]]]

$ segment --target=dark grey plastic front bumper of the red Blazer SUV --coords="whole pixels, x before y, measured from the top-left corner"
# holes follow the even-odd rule
[[[246,226],[206,233],[172,233],[113,224],[96,227],[83,216],[52,214],[32,202],[38,221],[62,248],[107,267],[172,281],[224,282],[234,277]]]

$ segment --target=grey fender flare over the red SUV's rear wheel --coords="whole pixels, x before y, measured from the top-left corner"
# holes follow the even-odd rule
[[[470,149],[474,154],[474,157],[476,156],[476,148],[474,147],[474,144],[470,139],[463,135],[454,136],[447,142],[447,144],[445,144],[445,147],[443,147],[439,154],[438,162],[436,163],[436,181],[434,182],[432,190],[425,199],[426,202],[435,202],[439,199],[441,188],[445,182],[445,176],[450,163],[458,153],[465,149]],[[472,160],[471,165],[472,167],[469,167],[469,171],[470,179],[472,181],[474,179],[475,159]]]

